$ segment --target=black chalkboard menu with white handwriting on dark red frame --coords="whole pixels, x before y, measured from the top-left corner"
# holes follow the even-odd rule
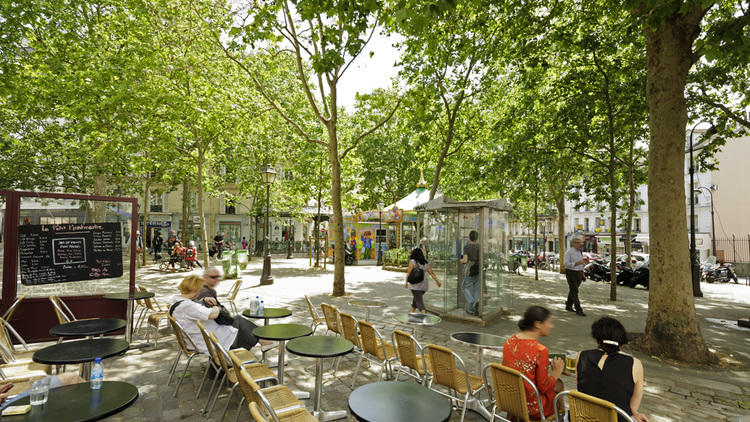
[[[65,283],[122,276],[119,223],[18,226],[21,283]]]

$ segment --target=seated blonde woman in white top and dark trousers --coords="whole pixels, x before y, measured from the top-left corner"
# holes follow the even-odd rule
[[[194,301],[201,292],[203,283],[203,278],[197,275],[185,277],[178,286],[181,294],[172,297],[169,308],[170,314],[185,330],[198,352],[206,353],[207,349],[200,328],[196,324],[197,321],[200,321],[206,330],[214,333],[216,339],[226,350],[240,347],[249,350],[255,346],[258,343],[258,339],[252,334],[255,324],[244,318],[234,318],[232,325],[218,324],[216,318],[219,317],[221,307],[207,307]],[[242,331],[241,334],[239,334],[240,331]]]

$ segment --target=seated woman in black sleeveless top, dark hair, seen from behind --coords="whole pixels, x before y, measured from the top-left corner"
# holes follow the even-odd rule
[[[578,391],[614,403],[638,422],[648,422],[638,413],[643,399],[643,364],[620,352],[628,342],[625,327],[614,318],[600,318],[591,326],[591,336],[597,348],[578,355]],[[622,416],[618,418],[625,422]]]

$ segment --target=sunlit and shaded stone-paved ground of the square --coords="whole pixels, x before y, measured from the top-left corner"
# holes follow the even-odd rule
[[[307,269],[307,260],[274,259],[273,274],[276,278],[272,286],[258,286],[260,263],[251,263],[243,272],[245,283],[240,292],[238,303],[245,307],[250,297],[260,295],[266,306],[286,306],[293,310],[293,316],[284,322],[308,324],[310,321],[302,295],[307,294],[317,306],[329,302],[340,309],[363,315],[360,308],[350,306],[351,297],[333,298],[330,296],[332,275],[330,272]],[[330,268],[329,268],[330,269]],[[403,274],[382,271],[375,267],[347,267],[347,291],[351,296],[384,300],[389,305],[372,311],[374,319],[390,335],[394,322],[389,318],[397,312],[408,311],[409,293],[403,288]],[[166,300],[176,292],[175,286],[184,274],[160,274],[146,268],[139,273],[139,283],[155,291],[159,298]],[[549,307],[556,318],[556,328],[552,335],[543,342],[552,351],[581,350],[594,347],[589,337],[590,324],[595,318],[613,315],[619,318],[632,332],[641,332],[647,312],[648,292],[642,289],[622,288],[618,291],[620,300],[611,303],[608,300],[608,286],[601,283],[584,283],[582,302],[588,316],[585,318],[564,312],[563,301],[567,294],[567,285],[558,275],[543,273],[545,280],[534,281],[533,273],[528,272],[513,281],[513,305],[511,316],[502,318],[492,325],[483,328],[466,326],[444,321],[438,326],[427,327],[421,331],[423,343],[433,342],[453,348],[465,358],[470,368],[476,362],[476,352],[469,347],[451,341],[449,335],[455,331],[483,331],[509,336],[516,329],[519,314],[531,304]],[[229,282],[220,286],[228,289]],[[697,305],[701,317],[704,337],[711,347],[731,357],[737,363],[728,366],[685,367],[663,362],[648,356],[636,354],[644,362],[647,388],[641,411],[651,421],[737,421],[741,415],[750,415],[750,330],[741,330],[722,325],[721,320],[736,320],[750,314],[750,287],[743,285],[704,285],[705,298]],[[401,327],[407,328],[407,327]],[[167,371],[176,355],[175,341],[168,331],[159,346],[128,352],[125,356],[110,359],[106,362],[107,379],[124,379],[139,386],[141,397],[135,405],[116,415],[113,421],[176,421],[202,420],[199,409],[204,406],[206,393],[196,399],[198,384],[202,376],[205,359],[194,359],[184,379],[177,398],[172,394],[174,384],[167,385]],[[488,351],[485,363],[499,360],[500,354]],[[351,392],[354,360],[342,360],[336,374],[328,372],[324,378],[324,409],[345,409],[346,399]],[[328,366],[326,366],[327,368]],[[180,365],[182,368],[182,364]],[[286,368],[287,384],[293,389],[312,391],[314,382],[314,361],[307,358],[290,357]],[[360,374],[357,385],[376,380],[377,367],[369,368]],[[575,387],[575,378],[563,377],[566,388]],[[228,389],[225,390],[225,393]],[[218,420],[226,403],[223,395],[214,409],[211,419]],[[229,416],[234,418],[239,403],[237,395],[232,401]],[[309,403],[311,406],[311,403]],[[246,409],[241,412],[241,420],[250,420]],[[350,420],[353,420],[350,417]],[[454,412],[451,420],[458,420]],[[481,420],[477,414],[469,412],[467,420]]]

